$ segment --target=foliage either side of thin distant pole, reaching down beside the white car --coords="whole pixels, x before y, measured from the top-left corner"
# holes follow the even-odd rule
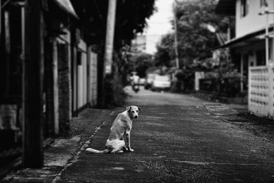
[[[173,13],[177,22],[177,49],[180,89],[192,90],[195,71],[214,71],[219,62],[212,60],[212,51],[219,46],[216,32],[226,32],[229,19],[216,15],[216,1],[177,1]],[[174,27],[174,21],[171,22]],[[208,25],[216,32],[210,32]],[[155,64],[175,66],[175,33],[166,34],[157,46]]]

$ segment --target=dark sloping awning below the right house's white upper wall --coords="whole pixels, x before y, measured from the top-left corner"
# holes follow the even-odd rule
[[[273,32],[273,27],[269,27],[269,32]],[[264,40],[265,29],[260,29],[256,32],[252,32],[245,36],[241,36],[239,38],[234,38],[229,40],[224,45],[221,45],[217,48],[225,48],[225,47],[242,47],[245,45],[249,45],[251,42],[258,42],[260,40]]]

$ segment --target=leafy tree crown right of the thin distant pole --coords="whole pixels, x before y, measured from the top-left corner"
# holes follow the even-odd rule
[[[207,26],[212,25],[219,32],[224,32],[228,19],[216,15],[215,6],[214,0],[184,1],[175,6],[179,60],[182,66],[197,58],[210,57],[212,48],[219,45],[215,34]]]

